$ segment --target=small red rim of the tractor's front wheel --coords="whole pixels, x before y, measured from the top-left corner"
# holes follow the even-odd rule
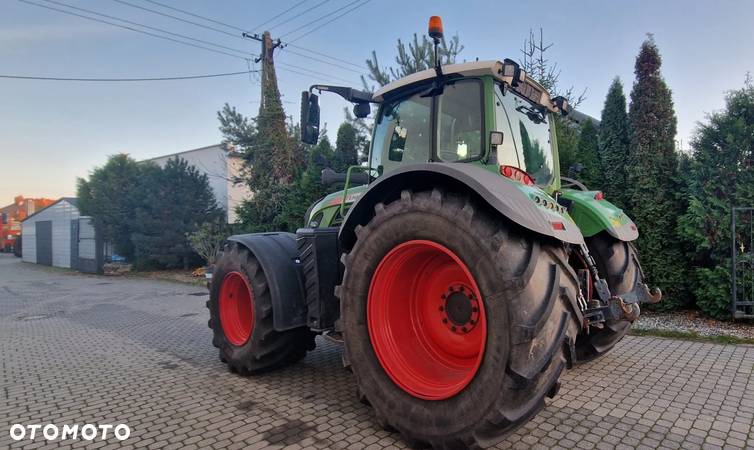
[[[246,277],[230,272],[220,285],[220,324],[228,342],[241,346],[254,329],[254,294]]]

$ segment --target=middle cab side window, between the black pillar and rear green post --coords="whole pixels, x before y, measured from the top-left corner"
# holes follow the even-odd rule
[[[482,83],[448,84],[437,100],[437,155],[454,162],[482,156]]]

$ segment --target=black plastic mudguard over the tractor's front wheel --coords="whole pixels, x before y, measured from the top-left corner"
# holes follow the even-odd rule
[[[228,238],[248,248],[262,265],[272,297],[276,331],[306,326],[306,300],[293,233],[237,234]]]

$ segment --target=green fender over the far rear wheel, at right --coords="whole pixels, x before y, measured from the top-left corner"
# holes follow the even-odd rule
[[[584,237],[607,231],[621,241],[633,241],[639,237],[636,224],[622,209],[605,199],[597,200],[599,191],[563,189],[560,198],[571,203],[570,215]]]

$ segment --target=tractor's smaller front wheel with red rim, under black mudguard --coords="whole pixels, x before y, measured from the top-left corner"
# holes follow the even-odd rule
[[[272,298],[262,266],[246,247],[235,242],[227,244],[217,259],[207,308],[212,344],[220,349],[220,360],[234,372],[247,375],[281,367],[314,349],[314,334],[307,328],[275,331]]]

